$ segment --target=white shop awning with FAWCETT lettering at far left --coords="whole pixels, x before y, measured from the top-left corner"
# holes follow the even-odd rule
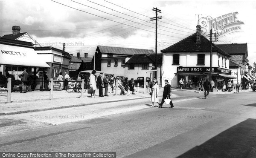
[[[5,44],[0,44],[0,65],[50,68],[33,48]]]

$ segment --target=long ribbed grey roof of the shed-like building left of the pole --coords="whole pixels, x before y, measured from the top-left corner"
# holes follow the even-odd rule
[[[98,46],[96,50],[100,51],[101,53],[116,55],[154,54],[152,49],[135,49],[111,46]]]

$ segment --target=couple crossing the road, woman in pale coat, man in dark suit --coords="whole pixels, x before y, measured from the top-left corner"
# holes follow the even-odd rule
[[[170,95],[171,95],[171,85],[168,84],[168,80],[164,80],[164,83],[165,83],[165,86],[164,86],[164,89],[163,89],[163,98],[162,98],[162,101],[161,103],[159,104],[159,108],[162,108],[163,106],[163,103],[164,103],[164,100],[166,98],[170,98]],[[158,88],[158,85],[157,85],[157,82],[156,80],[154,80],[152,82],[153,86],[152,86],[152,89],[151,89],[151,92],[152,92],[152,96],[151,96],[151,101],[152,101],[152,106],[151,107],[155,107],[154,106],[154,102],[159,102],[159,98],[158,98],[158,94],[159,94],[159,88]],[[172,100],[170,101],[170,107],[173,108],[173,103],[172,103]]]

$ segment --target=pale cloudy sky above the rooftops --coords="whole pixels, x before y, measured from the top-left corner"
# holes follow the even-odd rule
[[[28,32],[41,46],[62,49],[65,43],[66,52],[88,53],[89,57],[98,45],[155,51],[153,8],[160,9],[157,16],[161,17],[157,20],[158,53],[195,33],[198,19],[218,21],[237,12],[240,24],[235,23],[236,29],[218,35],[213,43],[247,43],[249,63],[256,62],[256,20],[252,18],[256,2],[252,0],[0,0],[0,36],[20,26],[20,32]],[[205,34],[209,39],[207,34],[209,29]]]

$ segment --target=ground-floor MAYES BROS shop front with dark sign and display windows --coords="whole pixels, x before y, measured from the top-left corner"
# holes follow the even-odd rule
[[[200,80],[209,79],[210,67],[177,67],[177,87],[182,79],[184,89],[197,89]],[[231,70],[219,67],[212,67],[212,80],[215,82],[215,89],[221,89],[222,83],[236,77],[231,75]]]

